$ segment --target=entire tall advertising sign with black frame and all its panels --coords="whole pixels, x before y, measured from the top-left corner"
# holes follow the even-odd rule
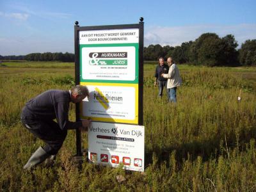
[[[143,18],[139,24],[75,26],[76,84],[89,97],[76,105],[76,119],[91,119],[92,163],[144,171]],[[76,132],[81,155],[81,132]]]

